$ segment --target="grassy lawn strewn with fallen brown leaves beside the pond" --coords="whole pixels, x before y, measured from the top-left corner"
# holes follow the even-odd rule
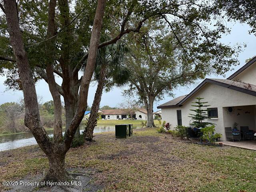
[[[178,142],[153,128],[134,130],[128,139],[116,140],[113,132],[96,134],[94,139],[71,149],[66,166],[96,170],[94,182],[104,185],[106,192],[256,189],[256,152],[252,150]],[[47,166],[38,146],[0,152],[0,183],[37,174]]]

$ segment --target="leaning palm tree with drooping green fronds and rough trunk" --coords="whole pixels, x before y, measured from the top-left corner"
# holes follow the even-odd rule
[[[97,124],[98,110],[104,87],[109,89],[111,86],[124,86],[131,76],[130,71],[124,65],[124,55],[128,52],[128,48],[123,44],[113,44],[98,51],[95,68],[95,79],[98,81],[98,86],[94,95],[92,110],[83,133],[84,138],[88,141],[93,141],[93,130]]]

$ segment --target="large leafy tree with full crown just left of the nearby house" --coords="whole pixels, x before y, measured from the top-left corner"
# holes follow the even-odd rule
[[[127,67],[132,71],[130,87],[124,94],[135,94],[147,110],[147,126],[155,126],[153,106],[164,96],[173,96],[178,86],[189,86],[209,74],[224,74],[236,60],[236,53],[229,46],[216,42],[214,36],[202,36],[200,28],[193,23],[168,26],[162,21],[150,20],[128,43],[132,54],[128,56]],[[214,39],[212,39],[214,38]],[[201,40],[200,40],[201,39]],[[128,40],[129,42],[129,40]]]

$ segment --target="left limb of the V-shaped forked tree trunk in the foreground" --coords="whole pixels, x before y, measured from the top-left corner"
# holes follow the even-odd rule
[[[4,7],[6,11],[8,32],[10,35],[10,44],[12,45],[14,51],[22,82],[24,104],[26,109],[24,122],[25,125],[31,130],[40,148],[45,153],[49,153],[52,150],[52,143],[50,142],[48,134],[40,122],[36,88],[20,32],[16,1],[4,0]]]

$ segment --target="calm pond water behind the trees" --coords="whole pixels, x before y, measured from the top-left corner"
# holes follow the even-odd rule
[[[133,126],[133,128],[137,128]],[[80,125],[80,132],[84,130],[84,125]],[[94,133],[114,131],[114,125],[99,125],[94,128]],[[47,133],[52,136],[53,130],[48,130]],[[63,132],[64,134],[64,132]],[[32,133],[19,133],[0,136],[0,151],[15,149],[23,146],[34,145],[36,140]]]

